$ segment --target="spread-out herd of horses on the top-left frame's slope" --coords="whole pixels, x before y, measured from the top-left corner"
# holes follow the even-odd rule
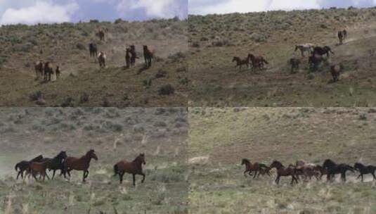
[[[105,34],[108,32],[107,28],[101,28],[96,32],[96,36],[99,40],[105,41]],[[155,50],[151,50],[148,46],[143,45],[143,57],[145,59],[145,68],[150,68],[152,65],[152,60],[155,58]],[[106,54],[104,51],[98,51],[97,44],[91,42],[89,44],[89,58],[94,58],[98,62],[100,69],[106,68]],[[125,49],[125,63],[126,68],[136,65],[136,58],[138,58],[136,53],[136,46],[134,44],[126,47]],[[56,80],[60,78],[60,67],[57,66],[56,70],[53,70],[53,65],[51,62],[47,61],[37,61],[34,63],[34,70],[36,75],[36,80],[44,80],[45,82],[51,81],[51,76],[55,72]]]

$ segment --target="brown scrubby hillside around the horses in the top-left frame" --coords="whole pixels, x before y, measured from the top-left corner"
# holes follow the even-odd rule
[[[41,92],[44,106],[183,106],[187,99],[187,22],[63,23],[56,25],[9,25],[0,27],[0,106],[37,106],[30,94]],[[105,42],[96,37],[108,29]],[[90,42],[107,55],[107,66],[89,58]],[[136,67],[124,69],[125,46],[136,45]],[[143,70],[142,46],[155,49],[152,68]],[[35,81],[34,62],[43,59],[60,65],[62,79],[46,84]],[[155,79],[158,72],[164,77]],[[152,84],[147,85],[152,79]],[[170,84],[174,94],[161,95]],[[81,96],[89,95],[87,101]]]

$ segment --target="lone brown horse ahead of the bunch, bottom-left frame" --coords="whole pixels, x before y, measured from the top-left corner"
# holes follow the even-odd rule
[[[145,165],[145,154],[140,153],[132,162],[121,160],[114,165],[115,175],[119,175],[120,184],[123,182],[124,173],[133,175],[133,185],[136,186],[136,175],[142,175],[141,183],[145,181],[145,173],[142,171],[142,165]]]

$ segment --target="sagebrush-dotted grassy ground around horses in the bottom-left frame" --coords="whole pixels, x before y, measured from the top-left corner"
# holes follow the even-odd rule
[[[0,109],[0,213],[187,213],[185,108]],[[14,165],[43,154],[95,149],[89,177],[15,180]],[[112,177],[119,160],[145,153],[146,178]],[[51,173],[50,173],[51,174]]]

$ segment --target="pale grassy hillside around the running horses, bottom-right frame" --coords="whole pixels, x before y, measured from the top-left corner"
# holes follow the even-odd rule
[[[193,213],[374,213],[375,183],[348,172],[290,186],[244,177],[242,158],[269,165],[332,158],[376,164],[373,108],[190,108],[189,200]],[[337,177],[339,178],[339,177]]]

